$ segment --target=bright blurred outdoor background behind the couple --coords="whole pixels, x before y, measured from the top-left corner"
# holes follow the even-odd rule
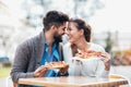
[[[93,41],[104,46],[112,55],[111,72],[131,79],[130,2],[130,0],[0,0],[0,58],[9,58],[9,61],[0,61],[0,71],[4,66],[9,66],[10,71],[16,46],[41,30],[41,18],[45,13],[49,10],[59,10],[88,22],[93,27]]]

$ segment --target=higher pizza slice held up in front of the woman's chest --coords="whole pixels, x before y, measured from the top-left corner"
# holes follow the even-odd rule
[[[88,59],[88,58],[95,58],[95,57],[104,57],[105,53],[100,51],[94,51],[94,50],[83,50],[79,53],[76,53],[76,57],[82,59]]]

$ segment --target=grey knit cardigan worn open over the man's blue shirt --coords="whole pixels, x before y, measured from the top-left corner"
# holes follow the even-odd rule
[[[11,70],[12,80],[17,83],[19,78],[33,77],[33,72],[38,67],[41,61],[45,48],[45,35],[39,35],[21,44],[15,51],[14,62]],[[63,61],[62,47],[59,44],[58,50],[60,60]],[[19,87],[28,87],[19,85]]]

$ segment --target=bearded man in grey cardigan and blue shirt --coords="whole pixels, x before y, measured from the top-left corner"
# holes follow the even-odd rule
[[[43,20],[44,29],[38,36],[21,44],[15,52],[11,70],[12,80],[17,83],[19,78],[59,76],[60,73],[48,70],[46,62],[62,61],[62,50],[59,42],[64,34],[67,14],[50,11]],[[62,71],[67,72],[67,70]],[[28,87],[19,85],[19,87]]]

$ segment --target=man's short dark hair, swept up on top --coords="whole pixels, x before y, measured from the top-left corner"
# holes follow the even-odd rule
[[[67,21],[69,21],[69,16],[67,14],[58,11],[49,11],[43,18],[43,25],[45,30],[48,30],[52,25],[59,27]]]

